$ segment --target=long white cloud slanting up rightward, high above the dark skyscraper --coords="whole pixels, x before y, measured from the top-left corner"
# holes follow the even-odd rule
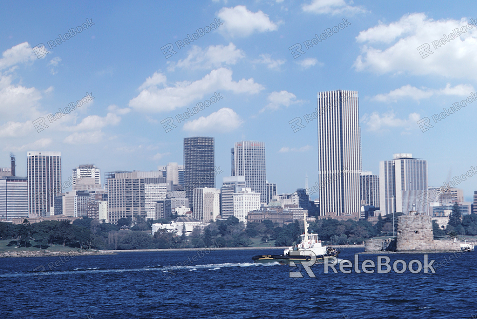
[[[253,81],[243,78],[238,82],[232,81],[232,71],[225,68],[212,70],[202,79],[194,82],[177,82],[173,87],[157,88],[154,86],[141,91],[139,95],[129,101],[129,106],[140,111],[158,113],[184,107],[194,101],[209,98],[214,92],[221,90],[233,93],[254,94],[264,87]]]

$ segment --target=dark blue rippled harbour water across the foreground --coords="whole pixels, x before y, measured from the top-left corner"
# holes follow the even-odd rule
[[[362,249],[345,249],[353,259]],[[472,318],[477,316],[477,252],[436,274],[323,273],[289,278],[292,267],[252,264],[251,256],[281,250],[214,251],[194,265],[196,252],[141,252],[104,256],[2,258],[0,318]],[[200,255],[200,253],[199,253]],[[437,262],[447,254],[430,254]],[[389,255],[423,261],[422,254]],[[195,257],[195,258],[198,258]],[[360,255],[374,260],[376,255]],[[54,263],[57,265],[55,266]],[[55,268],[49,270],[48,264]],[[53,264],[51,264],[53,263]],[[377,264],[377,263],[376,263]],[[45,275],[32,271],[46,268]],[[361,268],[361,267],[360,267]],[[41,269],[41,267],[39,267]]]

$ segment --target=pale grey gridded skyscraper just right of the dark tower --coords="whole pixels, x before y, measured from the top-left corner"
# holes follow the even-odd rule
[[[265,143],[256,141],[236,142],[231,150],[232,174],[245,176],[247,187],[260,193],[260,202],[267,202],[267,176],[265,165]]]

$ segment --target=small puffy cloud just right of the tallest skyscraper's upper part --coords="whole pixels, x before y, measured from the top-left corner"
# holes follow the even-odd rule
[[[371,115],[364,114],[361,118],[369,131],[381,132],[387,128],[401,127],[406,131],[416,128],[416,123],[421,119],[418,113],[409,114],[407,119],[397,118],[394,112],[386,112],[380,115],[378,112],[373,112]]]

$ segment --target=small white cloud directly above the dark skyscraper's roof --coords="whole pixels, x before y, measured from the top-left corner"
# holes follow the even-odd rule
[[[244,121],[232,109],[222,108],[207,117],[201,116],[184,124],[184,131],[226,133],[240,127]]]

